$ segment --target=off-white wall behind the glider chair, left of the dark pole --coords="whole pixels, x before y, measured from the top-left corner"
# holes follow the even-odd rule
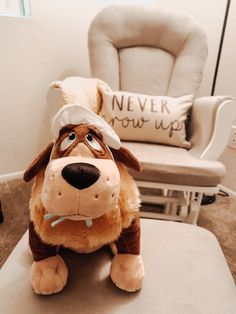
[[[209,38],[200,94],[210,94],[226,0],[31,0],[31,18],[0,17],[0,174],[25,169],[48,143],[48,84],[89,76],[87,30],[95,14],[137,2],[177,7],[200,20]]]

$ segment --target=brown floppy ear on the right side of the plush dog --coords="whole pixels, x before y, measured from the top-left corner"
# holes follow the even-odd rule
[[[114,149],[110,147],[110,149],[115,160],[122,162],[126,167],[135,171],[141,171],[140,162],[127,148]]]

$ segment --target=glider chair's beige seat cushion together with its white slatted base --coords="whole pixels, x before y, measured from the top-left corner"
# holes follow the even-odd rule
[[[179,147],[127,141],[122,145],[141,162],[142,171],[131,174],[140,188],[142,203],[164,206],[161,213],[142,211],[142,217],[196,224],[202,196],[218,193],[224,166]]]

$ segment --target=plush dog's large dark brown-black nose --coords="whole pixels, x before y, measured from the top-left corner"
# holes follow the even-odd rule
[[[83,190],[94,184],[100,177],[100,171],[94,165],[76,162],[65,166],[61,174],[73,187]]]

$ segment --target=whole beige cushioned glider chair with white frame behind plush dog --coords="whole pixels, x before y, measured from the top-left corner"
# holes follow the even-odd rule
[[[110,6],[89,29],[91,75],[113,90],[178,97],[198,95],[207,58],[206,35],[188,14],[160,7]],[[192,147],[128,142],[142,172],[132,175],[145,203],[162,203],[163,213],[142,216],[196,223],[203,193],[214,194],[225,175],[217,161],[236,116],[227,96],[195,98],[188,139]],[[161,191],[161,193],[160,193]]]

